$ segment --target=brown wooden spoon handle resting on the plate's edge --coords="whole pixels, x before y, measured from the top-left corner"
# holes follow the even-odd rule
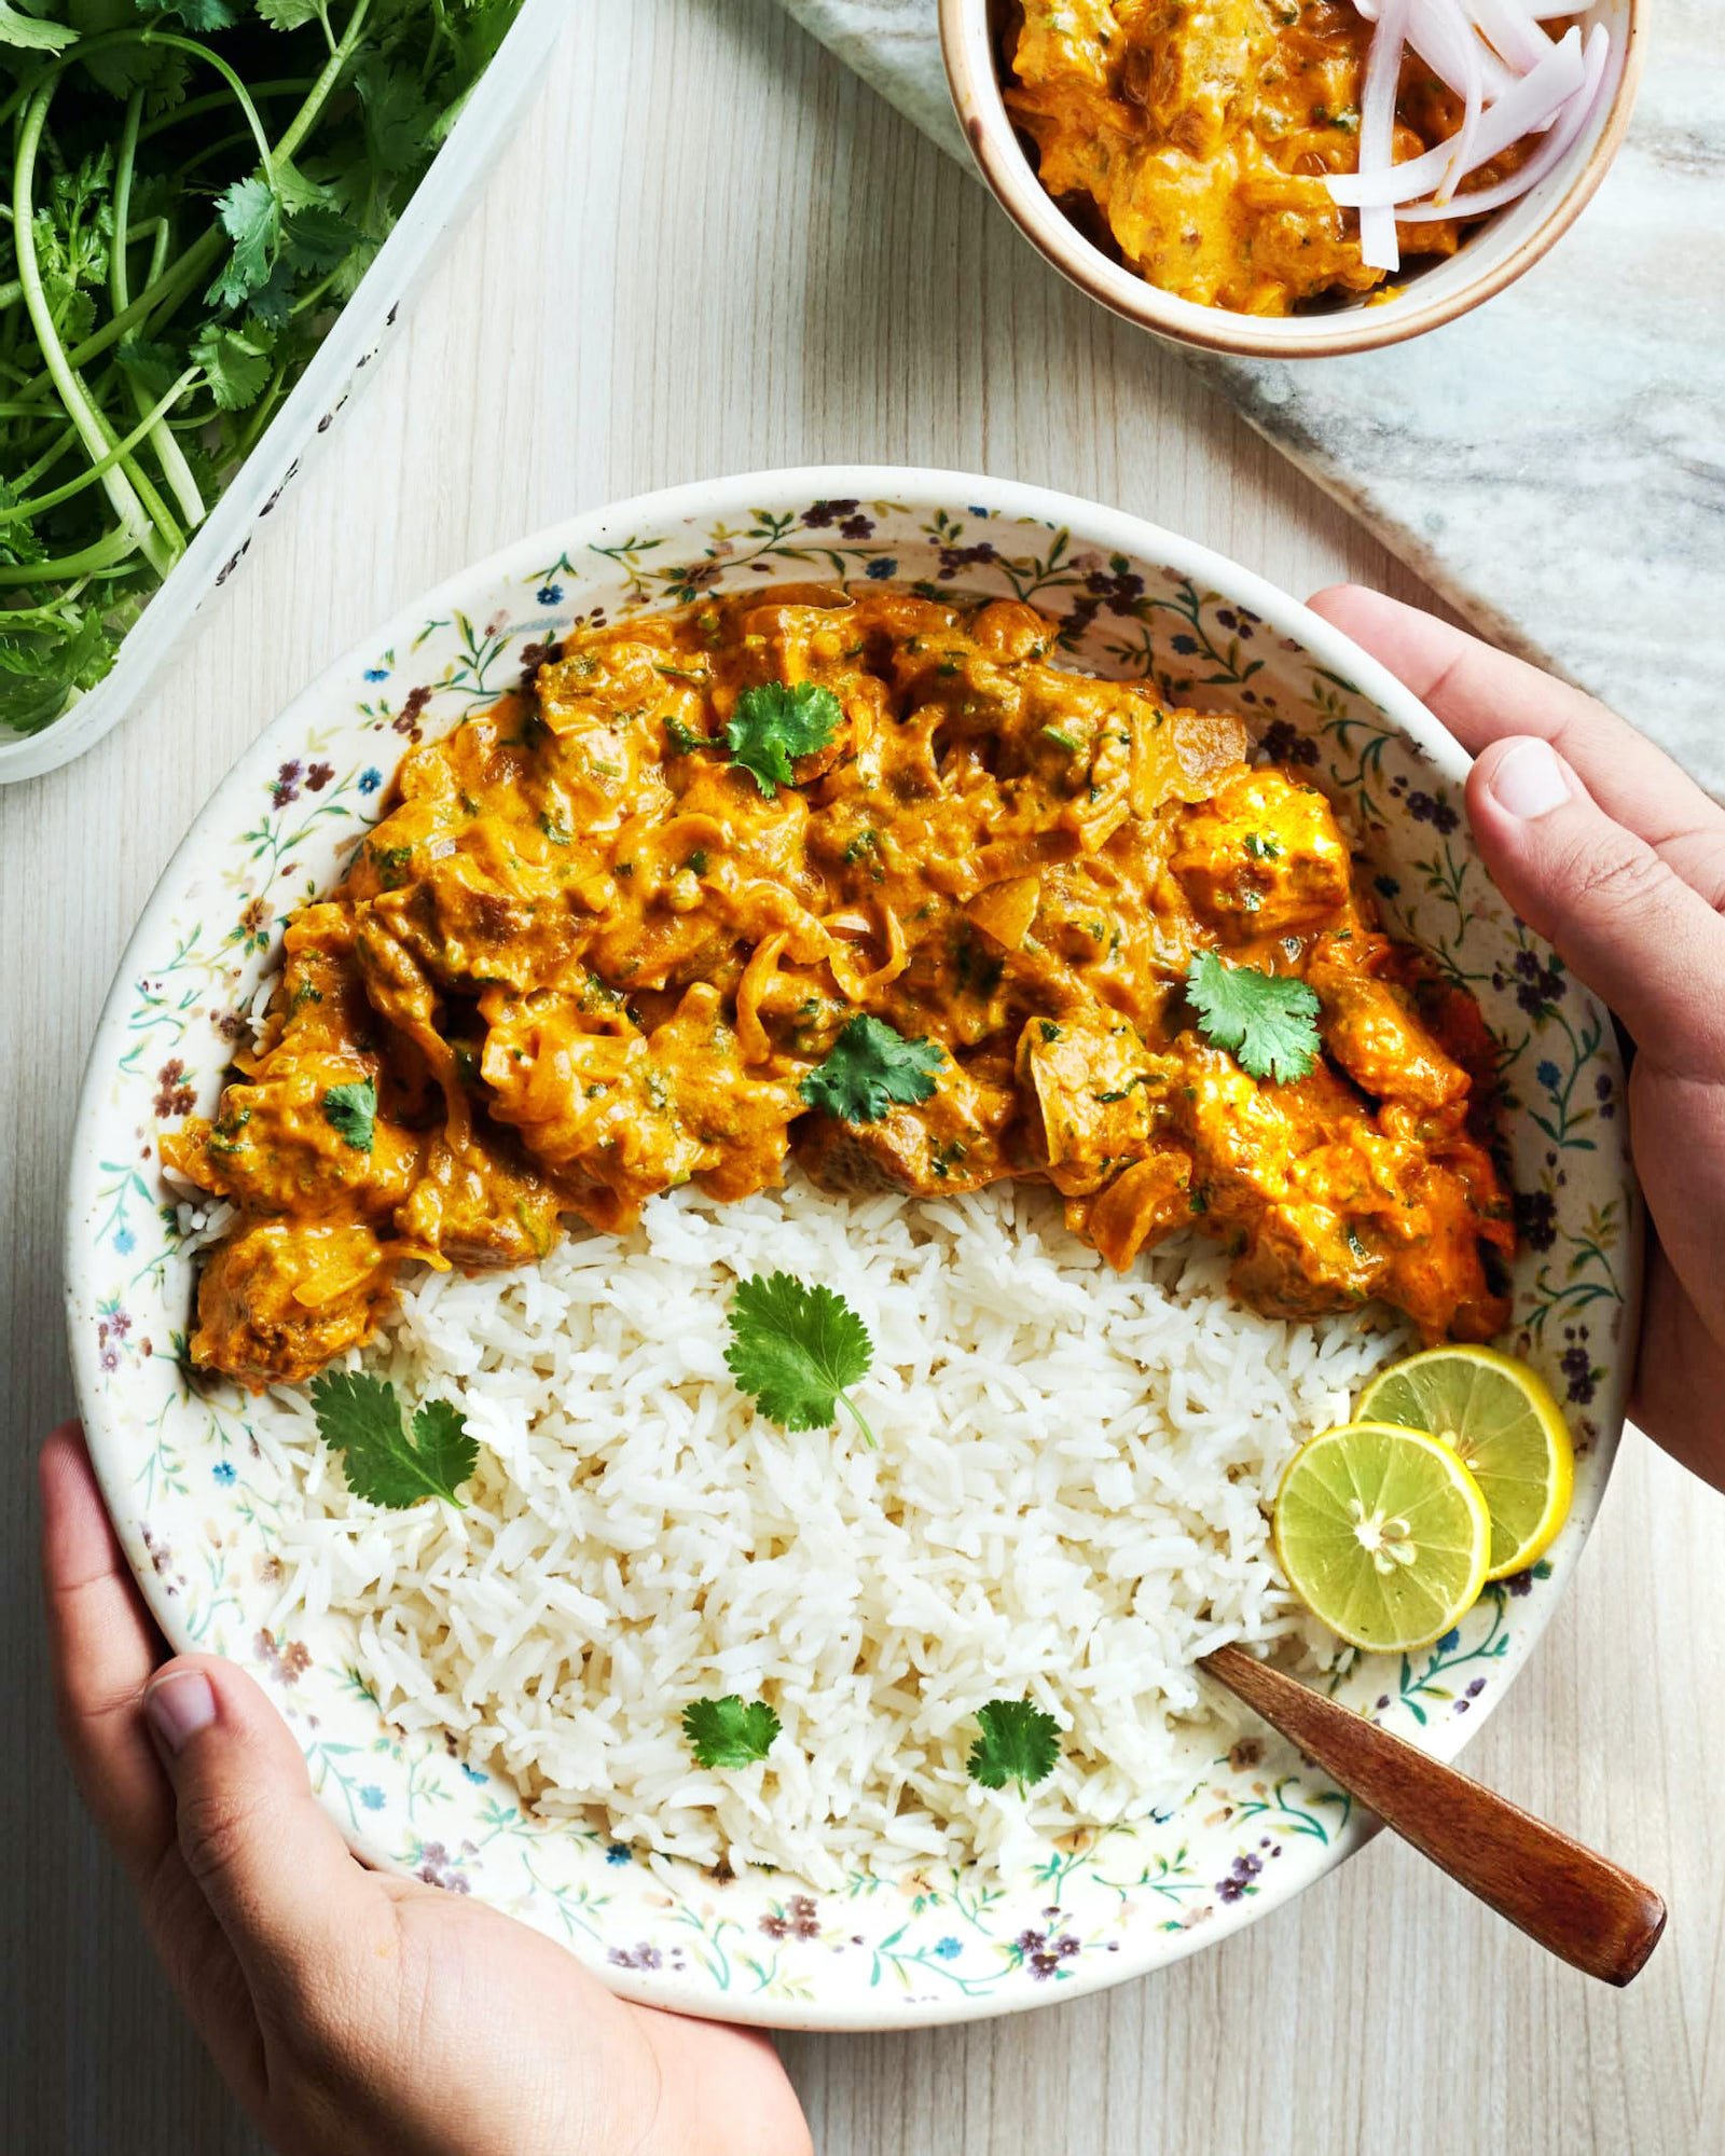
[[[1550,1953],[1606,1984],[1641,1973],[1665,1930],[1652,1887],[1244,1647],[1218,1647],[1201,1667]]]

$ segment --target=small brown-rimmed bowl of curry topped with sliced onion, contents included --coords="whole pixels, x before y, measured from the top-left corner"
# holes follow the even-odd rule
[[[1443,4],[940,0],[940,37],[983,179],[1074,285],[1182,343],[1313,358],[1503,291],[1628,129],[1639,0]]]

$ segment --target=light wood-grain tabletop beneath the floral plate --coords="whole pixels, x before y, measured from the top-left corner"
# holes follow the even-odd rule
[[[71,1406],[58,1212],[125,936],[237,748],[416,589],[571,509],[819,459],[983,468],[1143,511],[1305,591],[1414,593],[1179,362],[1054,280],[768,0],[589,0],[412,328],[149,709],[0,796],[0,2143],[254,2143],[75,1813],[41,1671],[28,1460]],[[1417,593],[1414,593],[1417,595]],[[1179,1968],[919,2037],[796,2037],[824,2156],[1706,2156],[1725,2150],[1725,1505],[1630,1438],[1475,1772],[1656,1880],[1587,1986],[1380,1841]]]

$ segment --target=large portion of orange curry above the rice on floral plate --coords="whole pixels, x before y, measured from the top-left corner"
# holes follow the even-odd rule
[[[1380,929],[1328,802],[1231,716],[1052,664],[1029,606],[781,586],[578,636],[414,748],[287,927],[263,1046],[164,1158],[231,1199],[192,1354],[298,1380],[403,1263],[541,1257],[660,1190],[1050,1181],[1115,1266],[1197,1227],[1261,1311],[1380,1296],[1427,1339],[1505,1317],[1473,1003]],[[724,729],[761,683],[841,720],[768,798]],[[1289,1084],[1210,1046],[1197,951],[1298,975]],[[869,1013],[932,1097],[813,1112]]]

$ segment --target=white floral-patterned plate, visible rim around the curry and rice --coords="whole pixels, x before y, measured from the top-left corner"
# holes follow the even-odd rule
[[[108,1505],[177,1647],[244,1662],[360,1854],[479,1893],[653,2005],[785,2027],[962,2020],[1158,1968],[1358,1848],[1367,1822],[1270,1733],[1223,1749],[1175,1809],[1074,1830],[1022,1876],[938,1867],[720,1880],[541,1824],[511,1787],[380,1714],[332,1617],[280,1619],[293,1488],[272,1404],[188,1384],[192,1259],[160,1136],[216,1100],[289,910],[328,886],[408,746],[511,686],[574,625],[787,578],[1018,593],[1072,658],[1238,707],[1343,800],[1393,925],[1479,996],[1503,1044],[1522,1255],[1512,1345],[1581,1445],[1576,1501],[1531,1576],[1425,1654],[1343,1664],[1343,1699],[1449,1755],[1540,1636],[1600,1505],[1624,1408],[1637,1218],[1604,1011],[1499,899],[1462,819],[1466,757],[1380,666],[1233,563],[1087,502],[919,470],[712,481],[574,517],[453,578],[343,658],[239,759],[125,955],[78,1115],[67,1307]]]

